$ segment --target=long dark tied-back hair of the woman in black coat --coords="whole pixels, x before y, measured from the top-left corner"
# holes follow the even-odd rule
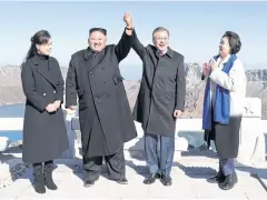
[[[37,44],[44,44],[48,43],[49,39],[51,38],[50,33],[47,30],[40,30],[38,32],[34,33],[33,37],[31,37],[31,46],[30,49],[22,62],[23,63],[29,60],[30,58],[34,57],[37,54]],[[22,67],[21,66],[21,67]]]

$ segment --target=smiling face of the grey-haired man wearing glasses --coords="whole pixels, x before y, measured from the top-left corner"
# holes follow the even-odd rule
[[[169,34],[166,30],[154,33],[154,44],[159,51],[166,51],[169,47]]]

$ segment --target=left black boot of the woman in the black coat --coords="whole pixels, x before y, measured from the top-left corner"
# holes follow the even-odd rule
[[[38,193],[46,193],[44,180],[42,173],[42,163],[33,164],[34,190]]]

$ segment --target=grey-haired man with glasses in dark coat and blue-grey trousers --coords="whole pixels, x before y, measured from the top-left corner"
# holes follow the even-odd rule
[[[150,184],[156,178],[160,178],[164,186],[170,186],[176,118],[185,108],[184,56],[168,47],[169,31],[165,28],[155,29],[155,46],[144,47],[135,32],[134,36],[134,50],[144,63],[141,86],[134,110],[135,120],[142,124],[145,131],[145,149],[150,171],[144,183]]]

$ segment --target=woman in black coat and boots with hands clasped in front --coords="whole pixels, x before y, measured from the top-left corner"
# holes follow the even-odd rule
[[[26,96],[23,123],[23,162],[33,166],[34,190],[56,190],[52,180],[53,159],[68,149],[68,137],[61,103],[63,79],[58,61],[49,57],[51,37],[38,31],[22,63],[21,80]],[[44,162],[44,164],[43,164]]]

